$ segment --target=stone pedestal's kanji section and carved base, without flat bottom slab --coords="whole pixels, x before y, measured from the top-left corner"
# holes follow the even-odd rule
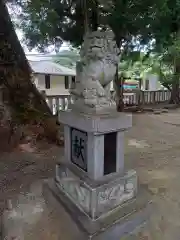
[[[58,188],[92,220],[135,197],[136,172],[124,173],[124,131],[131,116],[61,111],[59,121],[65,125],[65,159],[56,167]]]

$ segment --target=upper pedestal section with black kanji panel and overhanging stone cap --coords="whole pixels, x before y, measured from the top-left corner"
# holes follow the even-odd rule
[[[108,173],[124,171],[124,131],[132,126],[131,115],[78,114],[61,111],[59,121],[64,124],[65,159],[99,180]],[[74,150],[79,150],[74,155]],[[108,166],[107,166],[108,165]],[[107,169],[107,168],[110,169]]]

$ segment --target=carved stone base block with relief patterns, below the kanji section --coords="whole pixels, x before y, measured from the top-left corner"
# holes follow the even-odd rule
[[[137,193],[134,170],[123,176],[111,174],[101,181],[95,181],[73,164],[59,163],[55,181],[57,188],[92,220],[110,214]]]

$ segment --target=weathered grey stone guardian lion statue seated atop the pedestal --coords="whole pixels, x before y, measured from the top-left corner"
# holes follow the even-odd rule
[[[75,104],[87,108],[104,109],[115,104],[106,87],[114,79],[119,62],[118,49],[112,31],[87,33],[77,63]]]

